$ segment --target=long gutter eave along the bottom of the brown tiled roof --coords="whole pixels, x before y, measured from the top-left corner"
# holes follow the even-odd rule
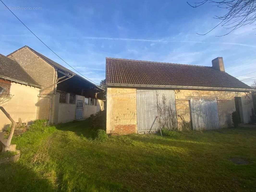
[[[122,86],[122,87],[151,87],[151,88],[176,88],[176,89],[208,89],[208,90],[226,90],[226,91],[256,91],[255,89],[241,89],[241,88],[144,85],[144,84],[124,84],[124,83],[106,83],[106,85],[107,86],[119,86],[119,87]]]

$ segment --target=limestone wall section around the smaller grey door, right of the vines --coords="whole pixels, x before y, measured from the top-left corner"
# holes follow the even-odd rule
[[[249,123],[253,103],[251,95],[248,96],[249,98],[244,92],[175,90],[176,112],[177,115],[182,115],[186,121],[190,121],[189,99],[226,99],[217,101],[219,124],[221,128],[230,127],[232,126],[231,113],[236,111],[234,97],[241,97],[244,123]],[[177,117],[177,122],[178,125],[181,122],[179,117]]]

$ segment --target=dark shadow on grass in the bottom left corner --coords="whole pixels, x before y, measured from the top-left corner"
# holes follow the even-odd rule
[[[0,191],[56,191],[51,182],[19,163],[0,166]]]

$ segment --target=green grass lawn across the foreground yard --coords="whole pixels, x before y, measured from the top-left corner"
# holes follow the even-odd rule
[[[91,126],[90,118],[38,124],[14,137],[21,156],[0,166],[0,191],[256,191],[256,129],[99,142]],[[234,164],[233,157],[249,164]]]

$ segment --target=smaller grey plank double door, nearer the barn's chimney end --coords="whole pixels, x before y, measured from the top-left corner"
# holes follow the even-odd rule
[[[190,100],[193,130],[219,129],[216,100]]]

